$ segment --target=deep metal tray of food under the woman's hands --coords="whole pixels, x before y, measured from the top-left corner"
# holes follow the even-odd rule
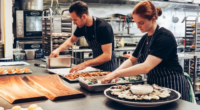
[[[128,77],[120,77],[115,82],[115,79],[112,80],[110,83],[107,84],[101,84],[101,80],[104,78],[104,76],[94,76],[94,77],[79,77],[79,85],[90,91],[90,92],[99,92],[104,91],[108,87],[116,84],[143,84],[144,81],[133,81],[130,80]]]

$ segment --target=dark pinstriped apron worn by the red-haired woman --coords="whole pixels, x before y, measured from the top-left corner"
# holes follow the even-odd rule
[[[156,30],[150,42],[148,43],[146,50],[142,52],[142,48],[146,44],[146,42],[144,41],[144,44],[140,49],[140,52],[137,57],[138,63],[143,63],[146,60],[150,52],[150,46],[153,40],[155,39],[155,36],[158,34],[158,30],[159,26],[157,25]],[[147,40],[147,37],[148,36],[146,36],[145,40]],[[150,85],[157,84],[162,87],[167,87],[177,90],[178,92],[181,93],[181,99],[190,101],[190,85],[186,77],[182,73],[169,68],[155,67],[147,74],[147,76],[148,76],[147,78],[148,84]]]

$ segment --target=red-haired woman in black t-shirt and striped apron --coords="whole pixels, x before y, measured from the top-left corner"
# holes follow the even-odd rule
[[[189,101],[190,86],[178,63],[175,38],[169,30],[156,23],[161,14],[162,10],[151,1],[142,1],[136,5],[132,12],[133,19],[140,31],[147,34],[141,38],[133,55],[102,79],[102,83],[117,77],[147,73],[148,84],[155,83],[177,90],[182,95],[181,99]]]

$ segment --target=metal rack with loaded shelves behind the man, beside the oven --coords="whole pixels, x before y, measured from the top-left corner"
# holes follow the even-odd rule
[[[68,11],[63,10],[62,14]],[[49,56],[53,50],[58,48],[62,43],[66,41],[71,36],[72,33],[72,20],[69,16],[63,15],[52,15],[51,9],[46,9],[43,11],[42,16],[42,44],[44,55]],[[72,55],[72,51],[60,52],[60,55]]]

